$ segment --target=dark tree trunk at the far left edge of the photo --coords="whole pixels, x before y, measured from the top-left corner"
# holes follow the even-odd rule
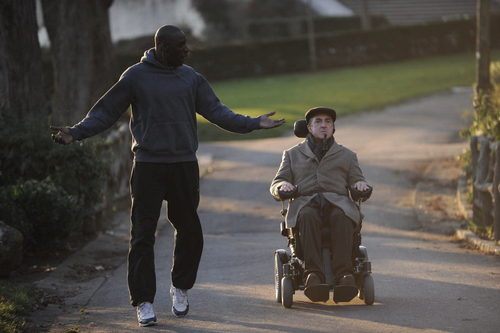
[[[0,4],[0,116],[45,115],[42,55],[35,0]]]

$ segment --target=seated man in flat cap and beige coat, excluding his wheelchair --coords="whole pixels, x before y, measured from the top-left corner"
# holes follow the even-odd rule
[[[283,193],[293,197],[285,223],[294,230],[296,253],[304,262],[305,295],[312,301],[324,300],[324,290],[328,288],[321,235],[322,228],[328,225],[335,298],[349,302],[358,294],[352,252],[353,235],[359,230],[362,215],[349,197],[348,188],[354,186],[364,192],[370,186],[356,153],[339,145],[333,137],[336,112],[316,107],[307,111],[305,117],[309,133],[303,142],[284,151],[270,190],[276,200],[283,200]]]

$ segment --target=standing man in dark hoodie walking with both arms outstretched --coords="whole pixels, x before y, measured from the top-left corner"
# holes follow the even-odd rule
[[[155,35],[155,47],[128,68],[118,82],[73,127],[51,126],[52,137],[70,144],[110,128],[132,106],[130,130],[134,165],[130,180],[131,239],[128,285],[140,326],[156,325],[152,303],[156,293],[154,243],[163,200],[175,228],[171,272],[172,312],[189,311],[187,290],[195,283],[203,249],[197,208],[199,170],[196,113],[219,127],[249,133],[281,126],[271,112],[258,118],[236,114],[223,105],[206,79],[183,65],[189,52],[184,33],[166,25]]]

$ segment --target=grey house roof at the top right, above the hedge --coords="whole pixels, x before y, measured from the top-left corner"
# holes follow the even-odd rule
[[[360,0],[337,0],[361,14]],[[394,25],[475,16],[477,0],[366,0],[370,15],[384,15]],[[490,12],[500,13],[500,1],[490,0]]]

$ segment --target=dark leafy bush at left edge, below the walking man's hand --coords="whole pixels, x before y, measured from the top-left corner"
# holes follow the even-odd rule
[[[102,196],[96,143],[61,146],[51,133],[46,125],[0,119],[0,220],[23,233],[27,249],[57,245],[93,218]]]

